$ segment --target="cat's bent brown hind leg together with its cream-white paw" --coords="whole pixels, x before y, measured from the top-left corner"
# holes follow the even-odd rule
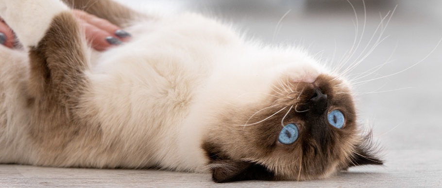
[[[29,53],[31,124],[25,130],[38,150],[31,163],[66,166],[69,145],[86,132],[75,115],[88,86],[84,34],[60,0],[1,0],[0,16]]]

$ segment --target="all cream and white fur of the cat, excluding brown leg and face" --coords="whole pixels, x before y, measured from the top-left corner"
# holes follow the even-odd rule
[[[52,17],[65,10],[58,0],[0,2],[0,16],[13,23],[26,47],[36,45]],[[30,124],[27,52],[0,47],[1,163],[207,170],[201,144],[214,126],[223,126],[221,111],[260,104],[282,78],[311,83],[328,73],[299,48],[267,47],[196,14],[138,20],[124,29],[131,42],[94,52],[86,71],[90,88],[78,110],[100,126],[101,142],[73,140],[54,163],[37,152],[24,129]],[[89,149],[78,149],[82,145]]]

